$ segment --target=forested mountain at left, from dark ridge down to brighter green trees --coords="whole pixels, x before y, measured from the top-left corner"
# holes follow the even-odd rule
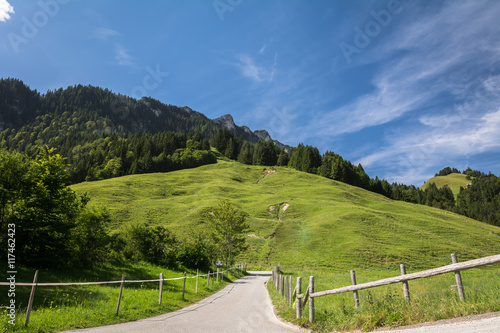
[[[39,147],[54,147],[70,165],[72,183],[215,163],[211,146],[233,159],[244,142],[269,142],[276,156],[286,147],[266,131],[237,126],[231,115],[212,120],[188,106],[99,87],[40,94],[1,79],[0,97],[0,149],[33,157]]]

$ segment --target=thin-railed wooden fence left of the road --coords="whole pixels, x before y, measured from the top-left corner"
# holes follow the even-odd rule
[[[210,272],[208,271],[207,274],[202,274],[200,275],[199,270],[196,270],[196,275],[194,276],[187,276],[186,272],[184,272],[184,275],[181,277],[177,278],[170,278],[170,279],[165,279],[163,277],[163,273],[160,273],[160,278],[159,279],[153,279],[153,280],[125,280],[125,275],[122,275],[121,280],[117,281],[101,281],[101,282],[47,282],[47,283],[38,283],[38,270],[35,272],[35,276],[33,278],[33,283],[25,283],[25,282],[16,282],[16,286],[29,286],[31,287],[31,293],[30,293],[30,298],[28,301],[28,307],[26,309],[26,319],[24,321],[24,325],[28,326],[29,323],[29,318],[31,314],[31,309],[33,307],[33,300],[35,298],[35,290],[37,287],[44,287],[44,286],[51,286],[51,287],[56,287],[56,286],[89,286],[89,285],[104,285],[104,284],[120,284],[120,292],[118,294],[118,303],[116,304],[116,312],[115,315],[118,315],[120,311],[120,303],[122,299],[122,293],[123,293],[123,288],[125,286],[125,283],[144,283],[144,282],[159,282],[159,296],[158,296],[158,304],[161,305],[162,302],[162,295],[163,295],[163,282],[164,281],[174,281],[174,280],[184,280],[183,282],[183,287],[182,287],[182,298],[184,299],[184,295],[186,292],[186,279],[196,279],[196,293],[198,293],[198,281],[200,277],[206,277],[207,278],[207,288],[210,285],[210,277],[212,277],[212,285],[214,282],[219,282],[219,278],[221,280],[224,279],[224,274],[229,272],[230,274],[233,274],[235,271],[238,272],[246,272],[247,270],[247,264],[238,264],[238,265],[233,265],[226,270],[220,271],[219,268],[217,268],[217,271]],[[9,286],[10,282],[0,282],[0,286]]]

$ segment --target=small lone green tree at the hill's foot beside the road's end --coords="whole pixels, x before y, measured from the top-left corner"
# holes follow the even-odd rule
[[[246,214],[224,200],[208,217],[210,236],[226,263],[230,265],[232,258],[247,248],[245,232],[249,225],[245,222]]]

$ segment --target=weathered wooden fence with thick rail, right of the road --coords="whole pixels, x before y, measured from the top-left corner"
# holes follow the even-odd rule
[[[296,301],[297,318],[302,317],[302,309],[306,306],[307,302],[309,301],[309,322],[312,323],[314,322],[314,315],[315,315],[314,299],[316,297],[352,292],[354,296],[354,305],[358,307],[359,306],[358,290],[380,287],[394,283],[402,283],[404,297],[409,302],[410,290],[408,286],[408,281],[428,278],[446,273],[455,274],[455,281],[457,285],[458,295],[460,299],[464,301],[465,294],[460,272],[471,268],[477,268],[481,266],[500,263],[500,254],[480,259],[469,260],[461,263],[457,261],[457,256],[455,254],[452,254],[451,260],[452,260],[451,265],[441,266],[438,268],[433,268],[411,274],[406,274],[405,265],[401,264],[400,276],[395,276],[392,278],[387,278],[362,284],[356,284],[356,274],[354,271],[351,271],[352,285],[342,288],[319,291],[319,292],[314,291],[314,276],[309,277],[309,285],[305,289],[304,293],[302,293],[302,278],[297,277],[297,284],[292,291],[292,277],[290,275],[280,274],[281,271],[280,267],[275,267],[273,269],[272,280],[279,294],[287,299],[288,306],[292,306],[292,303]]]

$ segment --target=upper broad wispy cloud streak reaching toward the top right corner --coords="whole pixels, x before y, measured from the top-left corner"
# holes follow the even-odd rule
[[[418,15],[401,27],[391,23],[391,38],[377,37],[380,46],[369,46],[359,55],[362,64],[373,59],[384,64],[372,79],[373,92],[324,112],[312,121],[310,132],[318,134],[316,124],[322,119],[329,125],[321,135],[354,133],[415,112],[443,93],[456,94],[498,62],[500,50],[491,46],[499,42],[499,16],[500,3],[448,2],[441,11]]]

